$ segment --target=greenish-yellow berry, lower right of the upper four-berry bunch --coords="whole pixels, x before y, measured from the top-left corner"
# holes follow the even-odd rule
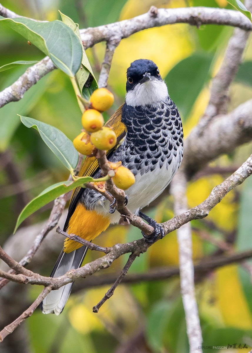
[[[91,134],[92,144],[98,150],[110,150],[116,144],[116,134],[109,127],[103,127],[101,130]]]

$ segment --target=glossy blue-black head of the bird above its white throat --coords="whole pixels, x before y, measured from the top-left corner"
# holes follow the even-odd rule
[[[138,83],[142,84],[149,80],[162,81],[155,62],[148,59],[135,60],[127,70],[126,91],[133,90]]]

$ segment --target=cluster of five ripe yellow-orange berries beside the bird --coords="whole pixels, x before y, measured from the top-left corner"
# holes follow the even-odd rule
[[[73,140],[73,145],[78,152],[90,156],[95,148],[107,151],[116,145],[116,134],[112,128],[103,126],[104,119],[101,114],[101,112],[109,109],[113,103],[114,96],[106,88],[97,89],[92,93],[90,97],[91,108],[85,110],[82,115],[84,131]],[[126,190],[134,184],[135,177],[129,169],[120,165],[121,162],[116,164],[111,168],[115,173],[112,179],[117,187]],[[100,186],[97,189],[102,191]]]

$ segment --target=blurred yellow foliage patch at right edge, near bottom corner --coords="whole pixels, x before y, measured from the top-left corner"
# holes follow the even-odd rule
[[[227,326],[251,330],[252,318],[241,288],[237,265],[216,270],[216,297],[223,322]]]

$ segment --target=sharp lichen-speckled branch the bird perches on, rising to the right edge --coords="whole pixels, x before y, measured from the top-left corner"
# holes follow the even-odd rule
[[[238,168],[238,170],[236,170],[235,173],[230,175],[230,177],[224,180],[223,183],[217,185],[204,202],[182,213],[181,215],[175,216],[173,219],[164,222],[162,226],[165,233],[168,234],[193,219],[201,219],[206,217],[209,211],[217,203],[219,203],[230,190],[240,185],[247,177],[251,175],[251,173],[252,155],[242,164],[240,168]],[[146,252],[150,246],[151,244],[146,243],[143,238],[132,241],[131,243],[116,244],[111,248],[111,251],[103,257],[98,258],[91,263],[85,264],[83,267],[78,269],[70,270],[65,275],[56,278],[44,277],[35,273],[32,274],[32,276],[25,276],[23,274],[13,275],[7,274],[4,271],[0,271],[0,276],[13,282],[46,286],[40,297],[38,297],[41,301],[52,289],[59,289],[60,287],[65,286],[68,283],[72,283],[79,278],[85,278],[88,275],[94,274],[98,270],[108,268],[116,258],[124,255],[125,253],[131,252],[139,254]],[[1,340],[10,334],[20,324],[20,322],[24,321],[24,319],[29,316],[28,313],[32,313],[34,311],[40,301],[37,299],[18,319],[3,329],[0,332]]]

